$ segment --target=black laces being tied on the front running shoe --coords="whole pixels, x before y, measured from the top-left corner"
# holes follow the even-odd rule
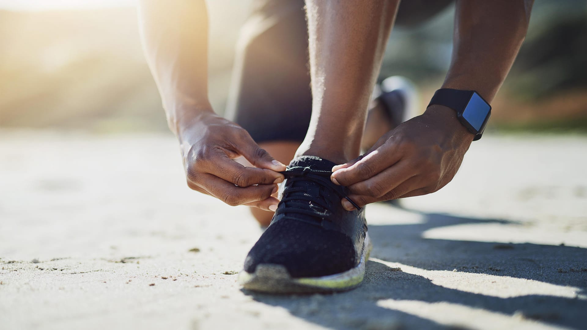
[[[281,200],[284,203],[289,202],[289,206],[294,206],[288,207],[287,213],[305,214],[310,215],[312,217],[326,217],[326,213],[320,214],[317,213],[315,210],[309,210],[308,204],[303,203],[305,201],[321,206],[325,210],[325,212],[328,212],[328,210],[330,209],[330,205],[328,203],[327,198],[311,196],[306,193],[306,190],[304,188],[294,187],[293,182],[298,180],[310,180],[318,183],[321,187],[328,187],[332,189],[332,191],[334,191],[339,197],[348,200],[350,204],[357,208],[357,210],[361,209],[355,203],[355,201],[346,196],[345,187],[336,186],[332,183],[332,181],[330,181],[330,175],[332,175],[331,171],[313,170],[310,167],[294,166],[290,167],[285,171],[282,171],[281,174],[284,174],[285,179],[287,179],[289,182],[292,182],[292,184],[288,187],[286,195],[283,196]],[[295,194],[295,196],[292,196],[294,195],[293,193],[302,194]]]

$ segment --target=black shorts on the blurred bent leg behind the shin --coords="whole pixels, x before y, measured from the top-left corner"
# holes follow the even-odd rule
[[[402,1],[396,26],[427,21],[453,0]],[[226,116],[257,142],[302,142],[312,114],[303,0],[256,0],[242,27]]]

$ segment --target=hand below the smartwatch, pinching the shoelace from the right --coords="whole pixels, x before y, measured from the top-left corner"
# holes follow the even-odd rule
[[[473,137],[454,110],[433,105],[382,136],[364,156],[333,167],[330,179],[347,186],[360,207],[430,194],[453,179]],[[346,199],[341,203],[354,209]]]

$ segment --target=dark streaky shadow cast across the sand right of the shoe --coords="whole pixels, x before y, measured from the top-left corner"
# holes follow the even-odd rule
[[[372,225],[369,233],[375,244],[372,257],[399,262],[424,270],[458,270],[478,274],[536,280],[555,285],[587,289],[587,249],[539,244],[497,244],[422,238],[434,227],[457,224],[504,223],[504,220],[461,218],[424,214],[419,224]],[[367,262],[365,281],[352,291],[332,295],[275,296],[245,291],[256,301],[283,307],[292,315],[333,329],[434,329],[443,325],[417,316],[414,308],[428,308],[437,302],[451,304],[457,311],[487,311],[498,318],[517,315],[544,325],[587,329],[587,300],[552,295],[521,295],[500,298],[451,289],[426,277],[396,271],[387,265]],[[410,301],[409,312],[384,307],[386,299]],[[382,302],[383,304],[378,304]],[[415,303],[412,304],[412,302]],[[414,307],[416,306],[416,307]],[[497,314],[496,314],[497,313]],[[472,314],[475,315],[475,314]],[[463,315],[463,318],[471,315]],[[466,320],[465,320],[466,321]],[[463,322],[464,324],[467,322]],[[497,325],[496,325],[497,326]],[[451,326],[450,328],[455,328]],[[457,326],[457,328],[467,328]]]

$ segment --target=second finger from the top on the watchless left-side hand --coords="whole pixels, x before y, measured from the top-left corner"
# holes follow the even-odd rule
[[[239,187],[249,187],[253,184],[272,184],[284,181],[284,175],[268,169],[245,167],[238,161],[230,159],[222,150],[213,160],[204,165],[204,169],[220,179],[234,183]]]

